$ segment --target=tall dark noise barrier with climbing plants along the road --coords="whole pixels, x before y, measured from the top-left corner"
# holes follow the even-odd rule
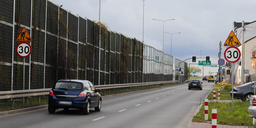
[[[33,40],[25,59],[15,52],[23,27]],[[172,63],[172,56],[50,1],[0,2],[0,91],[51,88],[60,79],[94,85],[172,81]]]

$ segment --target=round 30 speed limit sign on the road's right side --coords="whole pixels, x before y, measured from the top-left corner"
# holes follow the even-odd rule
[[[224,57],[228,62],[234,63],[240,59],[241,52],[237,47],[231,46],[225,50]]]

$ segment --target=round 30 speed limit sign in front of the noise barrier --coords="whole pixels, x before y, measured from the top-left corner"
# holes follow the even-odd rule
[[[21,58],[28,57],[32,52],[32,47],[27,42],[21,42],[16,46],[16,53]]]

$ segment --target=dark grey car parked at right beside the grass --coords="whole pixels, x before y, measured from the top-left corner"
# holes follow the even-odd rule
[[[242,101],[249,101],[251,95],[254,95],[254,82],[233,87],[233,95],[234,98],[241,99]],[[232,97],[232,91],[230,92],[230,97]]]

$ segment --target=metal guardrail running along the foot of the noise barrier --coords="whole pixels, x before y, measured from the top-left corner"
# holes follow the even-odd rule
[[[97,85],[97,89],[111,89],[123,88],[133,86],[146,86],[156,84],[180,83],[179,81],[164,81],[164,82],[148,82],[148,83],[129,83],[129,84],[110,84],[110,85]],[[41,96],[48,95],[52,88],[45,89],[32,89],[32,90],[16,90],[16,91],[0,91],[0,99],[10,99],[19,97]]]

